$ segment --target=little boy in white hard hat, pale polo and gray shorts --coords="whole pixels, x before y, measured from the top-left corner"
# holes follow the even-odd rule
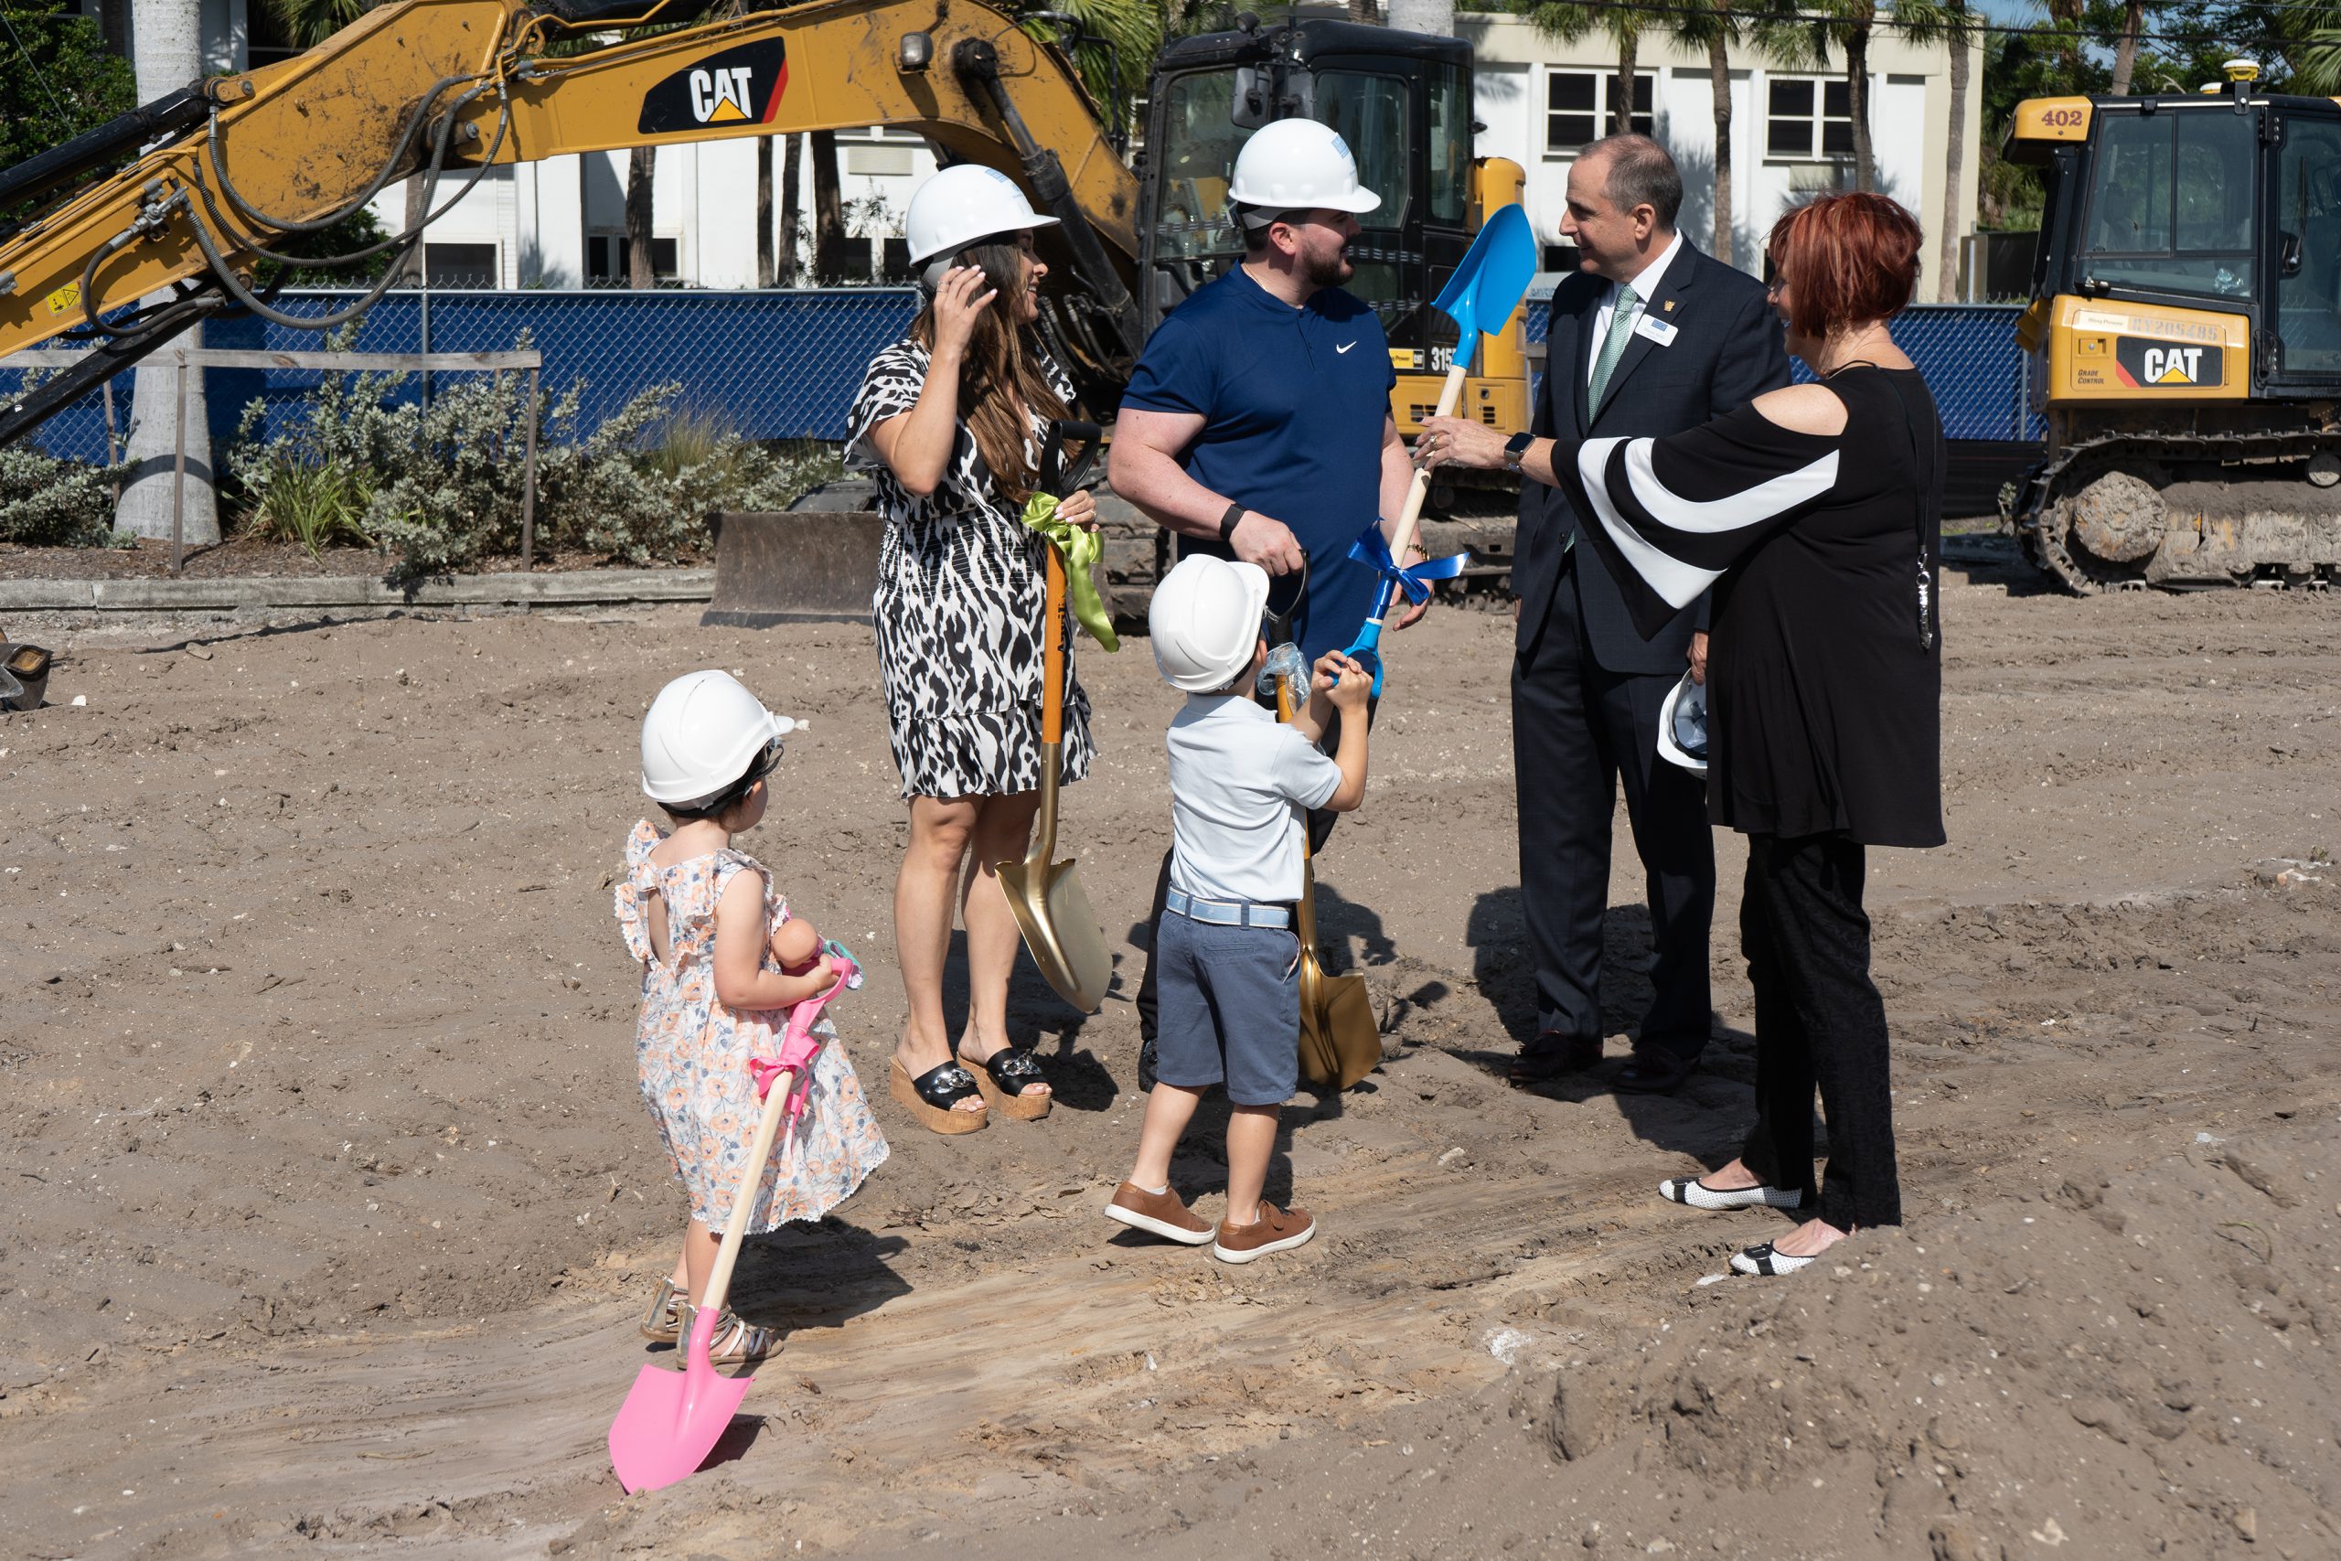
[[[1259,1191],[1276,1116],[1299,1086],[1302,819],[1365,800],[1365,697],[1374,679],[1339,651],[1318,660],[1290,726],[1252,700],[1269,655],[1257,564],[1194,555],[1154,587],[1154,665],[1187,704],[1170,721],[1170,903],[1154,929],[1161,988],[1154,1091],[1138,1163],[1107,1219],[1248,1264],[1316,1236],[1306,1210]],[[1341,711],[1339,751],[1316,742]],[[1170,1154],[1213,1084],[1227,1086],[1227,1217],[1217,1229],[1170,1191]]]

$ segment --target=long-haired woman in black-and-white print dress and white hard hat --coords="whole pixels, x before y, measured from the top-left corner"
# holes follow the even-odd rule
[[[887,1093],[936,1133],[993,1109],[1046,1116],[1049,1081],[1009,1046],[1009,969],[1021,934],[993,868],[1025,854],[1039,807],[1046,543],[1021,520],[1051,419],[1072,381],[1032,321],[1049,227],[1002,173],[960,164],[911,199],[927,307],[880,351],[854,396],[847,459],[873,473],[887,517],[873,623],[911,847],[894,880],[894,943],[911,1018]],[[1065,520],[1093,527],[1072,494]],[[1089,695],[1065,644],[1065,770],[1089,775]],[[967,920],[967,1027],[943,1020],[950,910]],[[974,1072],[969,1072],[974,1070]],[[979,1086],[981,1074],[981,1086]]]

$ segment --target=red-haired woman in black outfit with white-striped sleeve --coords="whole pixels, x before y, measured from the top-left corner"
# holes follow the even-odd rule
[[[1910,213],[1877,194],[1791,211],[1770,239],[1772,297],[1819,384],[1681,435],[1538,440],[1522,459],[1531,477],[1566,484],[1587,517],[1578,538],[1627,583],[1643,632],[1714,587],[1707,805],[1749,838],[1739,936],[1756,990],[1756,1128],[1723,1170],[1660,1191],[1814,1215],[1737,1254],[1742,1273],[1793,1273],[1856,1229],[1901,1224],[1861,880],[1870,845],[1943,843],[1943,426],[1887,332],[1917,283],[1920,243]],[[1433,419],[1421,459],[1498,466],[1496,438]],[[1814,1086],[1826,1182],[1812,1170]]]

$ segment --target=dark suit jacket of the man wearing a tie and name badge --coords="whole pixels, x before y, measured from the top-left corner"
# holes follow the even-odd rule
[[[1674,325],[1660,346],[1636,332],[1611,372],[1601,410],[1587,414],[1585,377],[1592,372],[1597,316],[1608,281],[1578,271],[1552,293],[1545,335],[1545,384],[1536,398],[1538,438],[1599,435],[1662,438],[1737,412],[1765,391],[1789,384],[1789,353],[1760,281],[1702,255],[1690,241],[1667,264],[1643,316]],[[1566,445],[1564,445],[1566,447]],[[1594,548],[1566,548],[1578,529],[1568,496],[1543,482],[1519,484],[1519,536],[1512,543],[1512,590],[1519,594],[1519,651],[1529,653],[1552,613],[1552,597],[1573,590],[1594,660],[1608,672],[1681,676],[1690,632],[1707,627],[1700,597],[1643,639],[1625,594]]]

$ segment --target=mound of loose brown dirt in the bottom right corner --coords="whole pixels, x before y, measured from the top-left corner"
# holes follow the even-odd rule
[[[1571,1484],[1735,1512],[1735,1554],[2329,1556],[2341,1130],[2198,1140],[1704,1287],[1540,1430]]]

